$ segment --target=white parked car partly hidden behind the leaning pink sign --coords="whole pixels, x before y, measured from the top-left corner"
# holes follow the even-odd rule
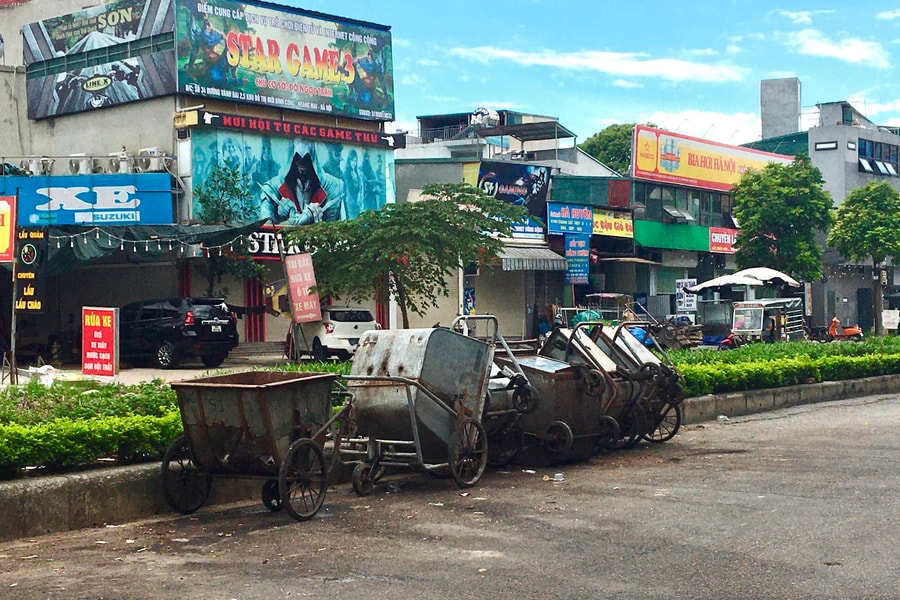
[[[323,306],[321,321],[301,323],[295,328],[293,340],[288,339],[288,344],[294,344],[288,355],[312,355],[319,361],[332,356],[347,360],[356,352],[362,334],[372,329],[380,326],[365,308]]]

